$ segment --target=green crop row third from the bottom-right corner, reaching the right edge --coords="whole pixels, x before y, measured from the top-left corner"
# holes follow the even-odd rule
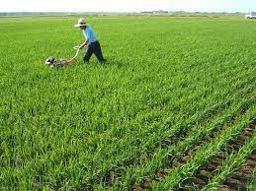
[[[236,100],[227,110],[215,117],[210,124],[206,126],[195,126],[187,138],[184,138],[181,142],[170,145],[167,149],[159,150],[151,162],[147,164],[146,170],[140,170],[140,175],[137,177],[157,174],[156,171],[159,171],[159,169],[168,170],[169,168],[165,166],[166,164],[171,167],[174,160],[185,157],[186,154],[190,153],[189,151],[195,153],[196,148],[199,149],[199,146],[209,141],[208,139],[216,137],[220,129],[235,123],[236,121],[234,119],[244,112],[244,109],[246,110],[253,102],[255,102],[255,96],[246,96],[243,100]],[[135,172],[132,173],[133,176],[135,176],[135,174]]]

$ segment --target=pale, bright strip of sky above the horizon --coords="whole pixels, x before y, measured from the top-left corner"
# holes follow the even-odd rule
[[[0,12],[256,11],[256,0],[1,0]]]

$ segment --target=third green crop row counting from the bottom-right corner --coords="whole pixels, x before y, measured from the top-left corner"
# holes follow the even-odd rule
[[[252,102],[255,102],[255,96],[246,96],[242,102],[236,100],[234,105],[224,113],[225,116],[222,116],[223,113],[220,113],[219,116],[209,124],[210,130],[208,130],[206,126],[195,126],[189,137],[179,140],[179,142],[173,145],[171,144],[167,148],[156,151],[152,159],[142,166],[128,169],[126,172],[127,176],[124,177],[126,182],[132,185],[132,182],[136,180],[135,189],[138,185],[148,184],[148,181],[151,181],[151,178],[155,176],[150,177],[150,174],[157,173],[159,169],[166,169],[166,166],[172,167],[172,163],[175,163],[175,160],[182,158],[184,154],[190,153],[190,151],[197,150],[200,147],[198,144],[200,144],[202,138],[205,140],[207,138],[213,138],[215,136],[214,133],[217,132],[221,126],[235,121],[235,118],[244,112],[244,109],[248,108]],[[130,176],[128,176],[128,174],[130,174]]]

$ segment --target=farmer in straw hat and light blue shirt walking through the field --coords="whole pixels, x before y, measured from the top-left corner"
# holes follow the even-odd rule
[[[87,45],[87,50],[84,56],[84,62],[88,63],[92,54],[94,53],[101,63],[105,63],[107,60],[104,59],[102,55],[101,44],[92,27],[86,24],[84,19],[79,19],[78,24],[76,24],[74,27],[80,28],[80,30],[83,31],[83,34],[86,38],[86,40],[79,45],[79,49],[82,49],[84,46]]]

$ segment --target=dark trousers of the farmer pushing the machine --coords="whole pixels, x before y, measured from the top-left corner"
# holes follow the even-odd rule
[[[99,41],[92,42],[88,45],[84,56],[84,62],[89,62],[92,54],[95,54],[101,63],[106,61],[102,55],[102,48]]]

